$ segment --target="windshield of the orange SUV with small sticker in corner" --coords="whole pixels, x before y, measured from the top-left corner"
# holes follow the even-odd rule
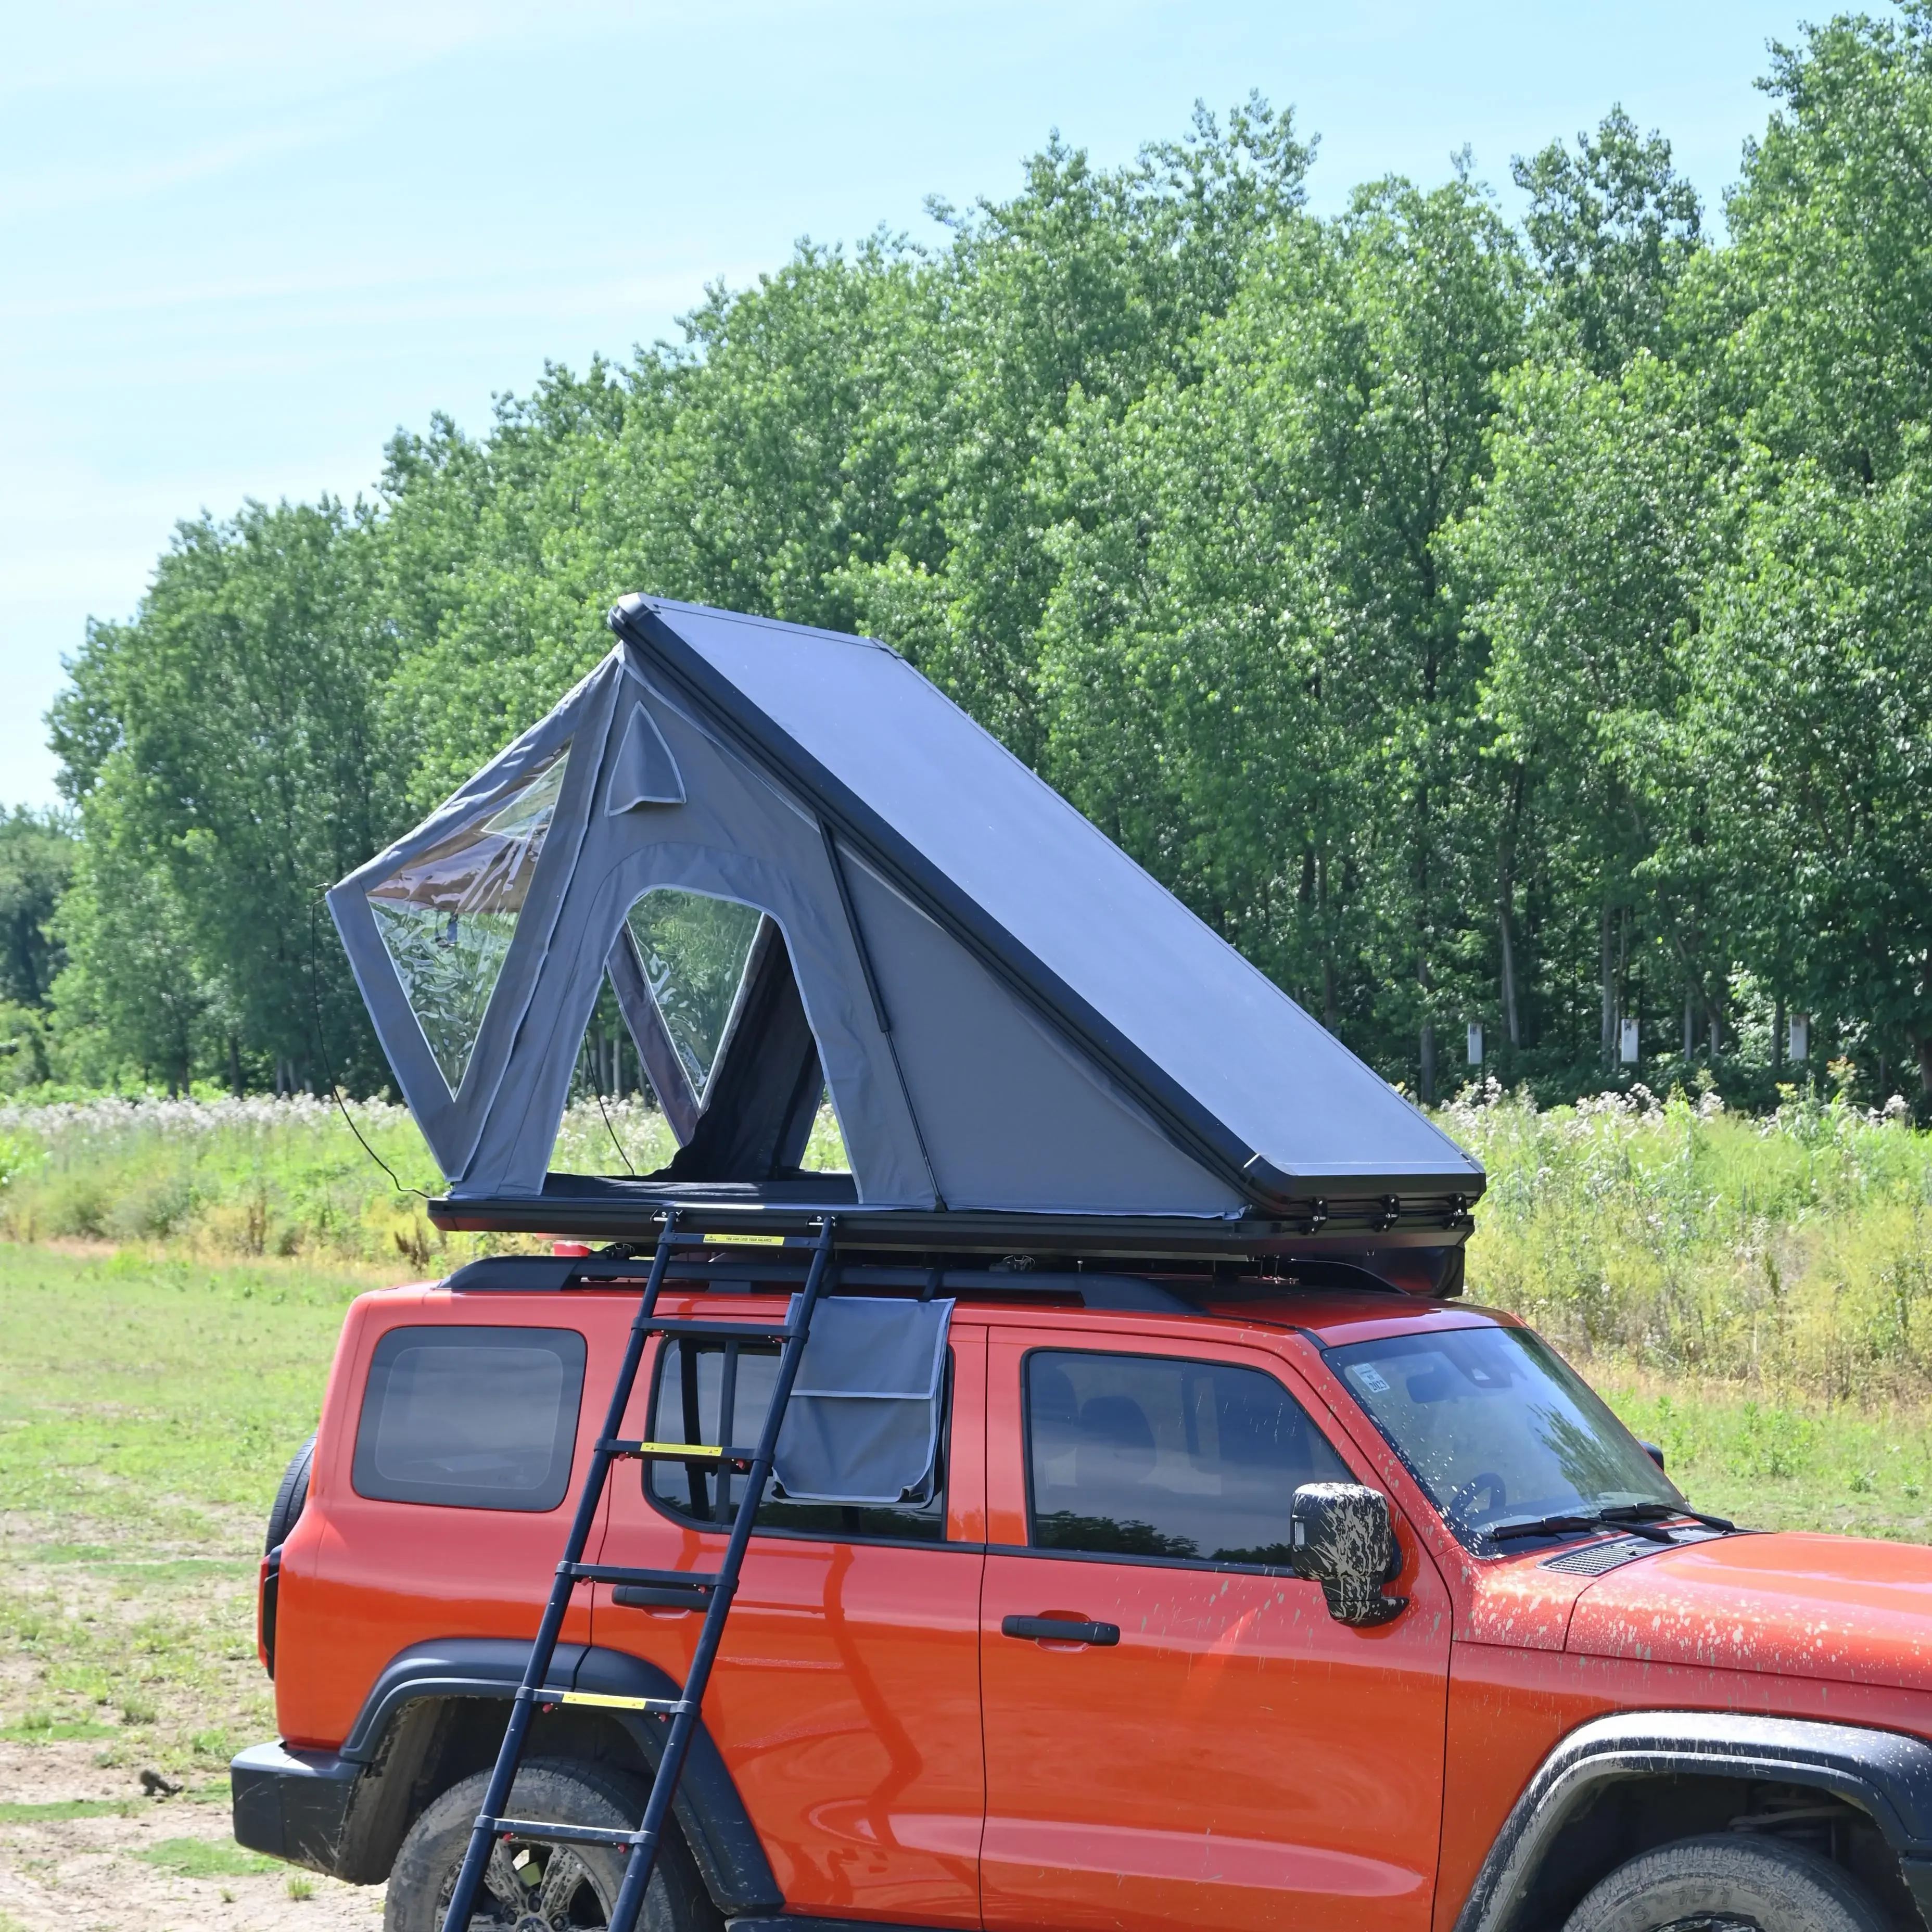
[[[1526,1329],[1391,1335],[1327,1354],[1470,1548],[1492,1551],[1490,1532],[1509,1522],[1683,1503],[1642,1443]]]

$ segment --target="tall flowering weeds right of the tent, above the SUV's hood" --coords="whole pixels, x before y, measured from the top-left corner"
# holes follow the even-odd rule
[[[1922,1399],[1932,1136],[1899,1109],[1793,1095],[1752,1119],[1644,1088],[1538,1109],[1488,1082],[1439,1121],[1490,1175],[1476,1298],[1580,1354],[1774,1397]]]

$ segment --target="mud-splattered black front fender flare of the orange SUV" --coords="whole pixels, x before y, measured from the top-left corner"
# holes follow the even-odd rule
[[[1897,1853],[1932,1926],[1932,1745],[1806,1718],[1648,1710],[1580,1723],[1544,1758],[1490,1847],[1455,1932],[1515,1932],[1544,1857],[1604,1785],[1698,1776],[1810,1785],[1857,1804]]]

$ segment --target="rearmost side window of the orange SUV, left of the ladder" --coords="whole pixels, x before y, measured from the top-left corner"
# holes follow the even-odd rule
[[[570,1488],[582,1395],[576,1329],[390,1329],[363,1391],[355,1493],[554,1509]]]

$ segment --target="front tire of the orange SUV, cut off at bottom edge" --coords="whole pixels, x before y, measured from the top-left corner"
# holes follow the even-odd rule
[[[1687,1837],[1619,1864],[1563,1932],[1888,1932],[1830,1859],[1741,1832]]]

